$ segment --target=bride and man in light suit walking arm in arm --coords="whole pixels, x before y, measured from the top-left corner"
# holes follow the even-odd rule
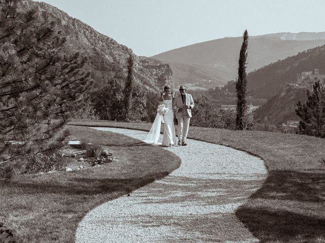
[[[172,145],[187,145],[186,138],[188,134],[189,121],[192,117],[191,109],[194,107],[194,101],[190,94],[186,93],[186,87],[179,87],[180,94],[173,97],[170,86],[164,87],[164,94],[161,94],[159,104],[164,104],[168,111],[161,115],[157,113],[153,125],[145,139],[146,143],[158,144],[160,136],[161,121],[164,121],[164,136],[161,145],[171,147]],[[178,142],[174,127],[174,109],[178,121]],[[164,116],[164,119],[163,117]]]

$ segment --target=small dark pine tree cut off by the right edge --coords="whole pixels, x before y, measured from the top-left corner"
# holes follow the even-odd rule
[[[301,134],[325,138],[325,85],[320,81],[313,85],[313,93],[307,90],[306,104],[297,104],[296,113],[302,119]]]

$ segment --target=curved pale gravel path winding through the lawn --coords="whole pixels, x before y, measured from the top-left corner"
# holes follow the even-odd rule
[[[140,140],[146,135],[95,129]],[[182,160],[170,175],[88,212],[76,242],[258,242],[235,211],[264,182],[264,161],[230,147],[187,143],[166,148]]]

